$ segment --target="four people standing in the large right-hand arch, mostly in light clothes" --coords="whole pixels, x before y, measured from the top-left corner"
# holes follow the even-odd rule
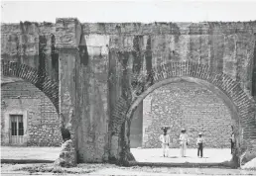
[[[167,133],[167,131],[169,129],[170,129],[169,127],[162,127],[162,130],[164,131],[164,133],[161,134],[159,137],[159,139],[162,143],[164,157],[168,157],[168,155],[169,155],[169,145],[171,143],[170,135]],[[230,140],[231,140],[231,153],[232,153],[233,147],[234,147],[233,127],[232,127],[232,134],[231,134]],[[189,136],[186,133],[185,129],[183,129],[180,134],[179,142],[180,142],[180,149],[181,149],[181,157],[186,157],[186,150],[187,150],[187,146],[189,145],[190,139],[189,139]],[[196,139],[197,156],[198,157],[202,157],[202,150],[203,150],[204,143],[205,143],[205,140],[202,137],[202,133],[199,132],[198,137]]]

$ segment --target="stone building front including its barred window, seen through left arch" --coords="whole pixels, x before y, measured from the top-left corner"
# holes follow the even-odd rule
[[[1,145],[61,146],[58,111],[35,85],[2,76],[1,105]]]

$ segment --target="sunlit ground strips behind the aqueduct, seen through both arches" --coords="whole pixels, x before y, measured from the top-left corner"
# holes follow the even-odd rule
[[[61,147],[1,147],[1,159],[40,159],[56,160],[60,154]],[[187,157],[180,157],[178,148],[170,148],[169,157],[163,157],[161,148],[139,149],[131,148],[131,152],[139,162],[211,162],[218,163],[231,159],[230,149],[205,148],[203,158],[198,158],[196,149],[188,149]]]

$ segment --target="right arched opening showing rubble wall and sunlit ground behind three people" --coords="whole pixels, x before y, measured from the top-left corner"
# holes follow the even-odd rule
[[[131,117],[130,147],[136,161],[219,163],[230,160],[229,139],[237,114],[229,98],[206,81],[192,77],[156,84]],[[162,126],[171,127],[169,157],[166,158],[159,141]],[[179,136],[183,128],[190,138],[186,158],[180,156]],[[203,133],[205,140],[202,159],[197,158],[198,132]],[[141,138],[135,138],[135,134]],[[136,144],[142,148],[134,148]]]

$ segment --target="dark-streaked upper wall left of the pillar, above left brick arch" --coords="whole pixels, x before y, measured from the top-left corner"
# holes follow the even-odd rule
[[[53,23],[1,24],[1,59],[29,65],[59,80],[55,33]]]

